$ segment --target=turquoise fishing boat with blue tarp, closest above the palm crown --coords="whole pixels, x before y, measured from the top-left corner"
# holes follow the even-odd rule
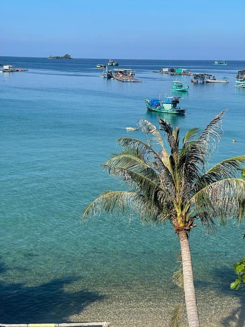
[[[162,112],[162,113],[173,113],[173,114],[184,114],[186,109],[181,108],[179,105],[178,97],[166,97],[164,100],[155,99],[144,99],[146,107],[149,110]]]

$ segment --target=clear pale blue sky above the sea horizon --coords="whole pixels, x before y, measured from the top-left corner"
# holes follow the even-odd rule
[[[244,0],[2,0],[0,56],[245,60]]]

